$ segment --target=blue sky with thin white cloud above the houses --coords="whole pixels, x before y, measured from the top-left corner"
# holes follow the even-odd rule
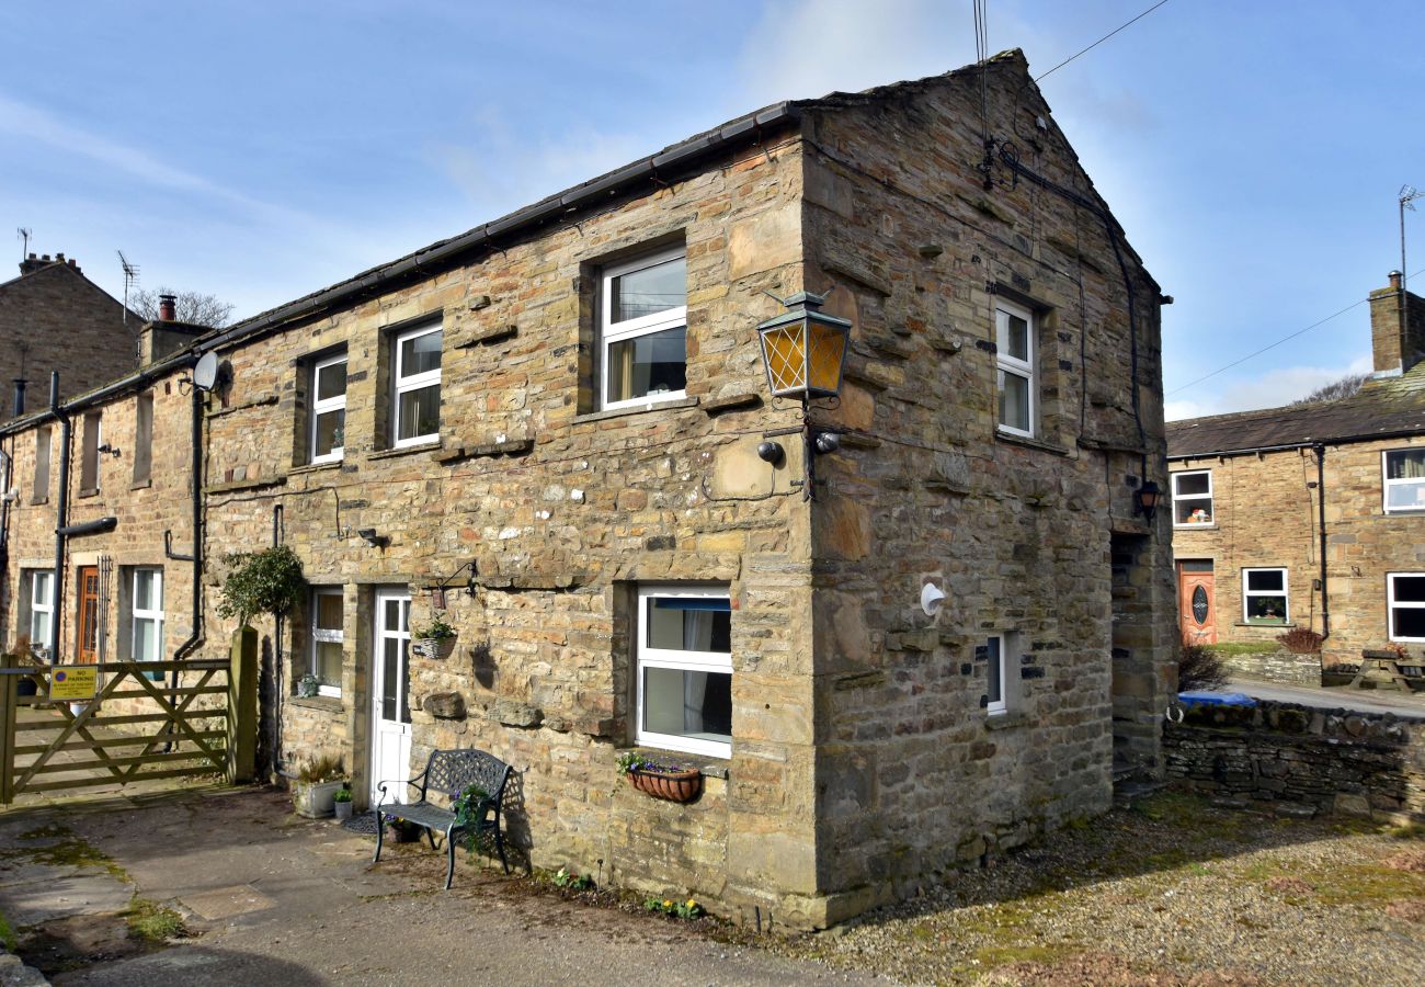
[[[990,0],[990,48],[1043,73],[1150,3]],[[1170,0],[1043,80],[1177,298],[1170,415],[1368,368],[1362,304],[1187,387],[1399,265],[1418,27],[1409,3]],[[968,0],[6,4],[0,244],[30,227],[114,294],[124,250],[142,285],[249,315],[754,107],[973,58]],[[1406,230],[1414,274],[1425,208]]]

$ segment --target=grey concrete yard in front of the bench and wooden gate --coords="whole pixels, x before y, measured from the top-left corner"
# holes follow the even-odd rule
[[[266,789],[10,810],[0,814],[0,914],[20,931],[21,956],[26,941],[80,956],[88,936],[90,960],[68,971],[53,960],[54,984],[886,983],[567,901],[463,861],[442,891],[443,861],[429,847],[388,847],[372,867],[369,840],[299,819]],[[133,896],[174,907],[198,936],[124,954],[113,913]]]

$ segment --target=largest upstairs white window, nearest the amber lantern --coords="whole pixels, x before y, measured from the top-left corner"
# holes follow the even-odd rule
[[[630,408],[681,398],[688,379],[685,251],[604,270],[600,290],[600,404]]]

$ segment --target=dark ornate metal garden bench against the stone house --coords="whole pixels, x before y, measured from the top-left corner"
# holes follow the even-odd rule
[[[372,810],[376,816],[376,856],[370,861],[376,863],[380,860],[380,843],[386,829],[383,820],[390,817],[413,823],[426,830],[426,839],[430,840],[432,850],[436,849],[436,832],[439,830],[445,834],[446,854],[449,857],[446,890],[450,890],[450,881],[455,880],[455,837],[460,833],[470,833],[476,840],[480,839],[480,834],[490,834],[494,840],[494,849],[500,854],[500,864],[504,867],[504,873],[510,873],[510,864],[504,859],[504,836],[500,833],[500,800],[504,797],[504,784],[509,779],[510,766],[483,750],[432,750],[430,760],[426,762],[426,770],[406,782],[406,784],[419,792],[419,799],[415,802],[386,802],[386,786],[400,784],[400,782],[382,782],[376,786],[380,790],[380,800]],[[472,784],[480,786],[486,794],[475,804],[473,822],[460,826],[456,823],[453,812],[455,802]],[[429,800],[432,794],[445,796],[450,807],[432,803]]]

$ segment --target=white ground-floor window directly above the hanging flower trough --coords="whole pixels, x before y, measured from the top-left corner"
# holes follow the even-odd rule
[[[640,586],[637,740],[732,756],[732,606],[725,589]]]

